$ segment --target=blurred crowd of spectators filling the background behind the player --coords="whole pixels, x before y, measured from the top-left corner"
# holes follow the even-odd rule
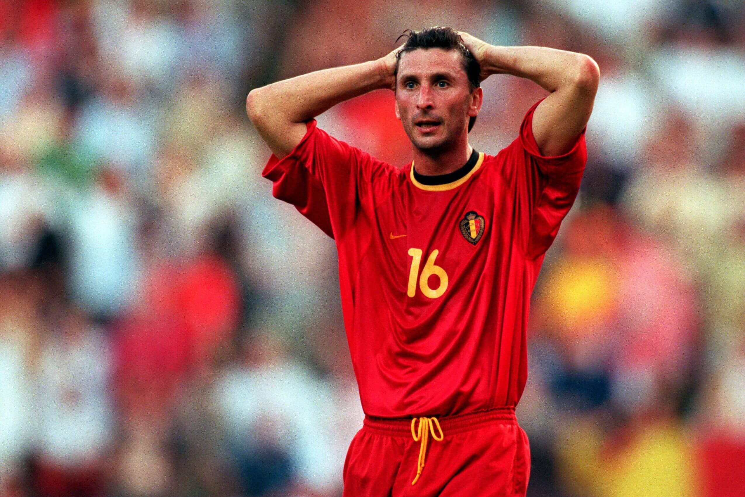
[[[340,496],[335,247],[271,197],[245,97],[430,25],[600,65],[533,294],[528,496],[745,496],[740,0],[0,0],[0,496]],[[544,92],[484,92],[493,154]],[[392,92],[319,122],[411,159]]]

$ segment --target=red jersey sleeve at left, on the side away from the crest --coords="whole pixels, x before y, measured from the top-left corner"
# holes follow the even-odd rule
[[[285,157],[272,154],[261,176],[271,180],[272,194],[297,210],[332,238],[355,221],[373,177],[387,165],[329,136],[308,121],[308,130]]]

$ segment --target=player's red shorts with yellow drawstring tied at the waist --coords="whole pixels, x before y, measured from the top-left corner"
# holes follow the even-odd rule
[[[343,497],[525,496],[530,448],[514,409],[433,419],[412,428],[366,416],[344,461]]]

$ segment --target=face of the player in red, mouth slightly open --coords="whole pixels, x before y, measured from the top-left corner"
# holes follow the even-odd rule
[[[402,54],[396,117],[416,148],[446,150],[467,136],[469,117],[480,108],[481,89],[471,92],[460,52],[419,48]]]

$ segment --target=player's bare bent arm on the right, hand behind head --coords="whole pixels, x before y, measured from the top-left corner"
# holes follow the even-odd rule
[[[481,79],[508,74],[527,77],[551,92],[533,114],[533,136],[544,156],[568,152],[592,113],[600,69],[585,54],[545,47],[489,45],[460,33],[481,64]]]

